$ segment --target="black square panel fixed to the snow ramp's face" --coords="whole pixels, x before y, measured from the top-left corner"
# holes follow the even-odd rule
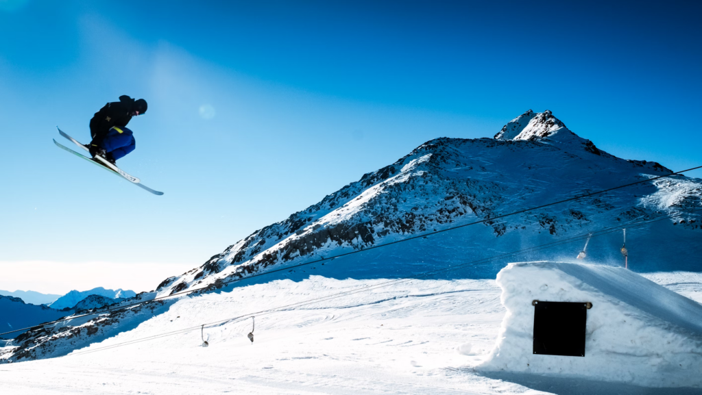
[[[534,354],[585,356],[590,303],[534,300]]]

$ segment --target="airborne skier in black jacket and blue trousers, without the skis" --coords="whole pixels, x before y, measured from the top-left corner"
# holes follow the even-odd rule
[[[146,109],[146,100],[134,100],[122,95],[119,96],[119,102],[107,103],[96,112],[90,120],[90,134],[93,140],[88,144],[93,158],[99,155],[114,164],[117,159],[132,152],[136,141],[132,131],[125,126],[132,116],[142,115]]]

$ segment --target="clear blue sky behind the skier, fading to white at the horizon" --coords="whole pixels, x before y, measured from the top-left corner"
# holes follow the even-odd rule
[[[0,0],[0,289],[152,289],[427,140],[491,137],[527,109],[626,159],[702,163],[694,2],[222,3]],[[164,196],[51,142],[56,125],[86,142],[124,94],[150,107],[119,166]]]

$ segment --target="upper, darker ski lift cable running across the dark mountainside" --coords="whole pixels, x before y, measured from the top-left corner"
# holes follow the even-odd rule
[[[448,232],[448,231],[450,231],[450,230],[460,229],[460,228],[468,227],[468,226],[471,226],[471,225],[479,225],[479,224],[482,224],[482,223],[485,223],[485,222],[498,220],[498,219],[504,218],[504,217],[509,217],[509,216],[511,216],[511,215],[517,215],[517,214],[527,213],[527,212],[529,212],[529,211],[538,210],[539,208],[545,208],[545,207],[549,207],[549,206],[555,206],[555,205],[560,204],[560,203],[566,203],[566,202],[568,202],[568,201],[574,201],[574,200],[577,200],[577,199],[583,199],[583,198],[588,197],[588,196],[594,196],[594,195],[597,195],[597,194],[603,194],[603,193],[605,193],[605,192],[613,191],[613,190],[615,190],[615,189],[621,189],[621,188],[625,188],[625,187],[630,187],[630,186],[632,186],[632,185],[638,185],[638,184],[642,184],[642,183],[644,183],[644,182],[651,182],[651,181],[658,180],[658,179],[661,179],[661,178],[671,177],[671,176],[673,176],[673,175],[680,175],[680,174],[682,174],[682,173],[686,173],[686,172],[691,171],[691,170],[696,170],[696,169],[698,169],[698,168],[702,168],[702,166],[697,166],[697,167],[694,167],[694,168],[689,168],[689,169],[687,169],[687,170],[680,170],[680,171],[677,171],[677,172],[675,172],[675,173],[670,173],[670,174],[667,174],[667,175],[658,175],[658,176],[656,176],[656,177],[654,177],[654,178],[647,178],[646,180],[640,180],[640,181],[636,181],[636,182],[630,182],[630,183],[625,184],[625,185],[619,185],[618,187],[611,187],[611,188],[609,188],[609,189],[602,189],[601,191],[597,191],[597,192],[589,192],[589,193],[587,193],[587,194],[581,194],[581,195],[578,195],[578,196],[571,197],[571,198],[569,198],[569,199],[564,199],[564,200],[560,200],[560,201],[555,201],[555,202],[552,202],[552,203],[546,203],[546,204],[543,204],[543,205],[541,205],[541,206],[536,206],[536,207],[532,207],[532,208],[525,208],[524,210],[518,210],[518,211],[515,211],[515,212],[512,212],[512,213],[497,215],[497,216],[495,216],[495,217],[489,217],[489,218],[486,218],[486,219],[484,219],[484,220],[479,220],[479,221],[475,221],[475,222],[469,222],[468,224],[463,224],[463,225],[458,225],[458,226],[455,226],[455,227],[449,227],[449,228],[446,228],[446,229],[441,229],[441,230],[437,230],[437,231],[432,231],[432,232],[427,232],[427,233],[423,233],[423,234],[418,234],[418,235],[416,235],[416,236],[410,236],[410,237],[407,237],[407,238],[405,238],[405,239],[396,240],[396,241],[390,241],[389,243],[378,244],[378,245],[376,245],[376,246],[370,246],[370,247],[367,247],[367,248],[363,248],[362,250],[355,250],[355,251],[350,251],[350,252],[348,252],[348,253],[341,253],[341,254],[338,254],[338,255],[333,255],[333,256],[331,256],[331,257],[322,257],[322,259],[312,260],[312,261],[308,261],[308,262],[303,262],[303,263],[300,263],[300,264],[298,264],[298,265],[286,266],[286,267],[282,267],[282,268],[280,268],[280,269],[273,269],[273,270],[270,270],[270,271],[267,271],[267,272],[263,272],[263,273],[251,274],[251,276],[241,277],[241,278],[239,278],[239,279],[232,279],[232,280],[230,280],[230,281],[223,281],[223,282],[221,283],[221,285],[222,285],[222,286],[227,286],[227,285],[229,285],[229,284],[231,284],[231,283],[237,283],[237,282],[239,282],[239,281],[244,281],[244,280],[248,280],[248,279],[253,279],[254,277],[258,277],[258,276],[266,276],[266,275],[268,275],[268,274],[273,274],[273,273],[277,273],[277,272],[282,272],[282,271],[284,271],[284,270],[295,269],[295,268],[297,268],[297,267],[303,267],[303,266],[307,266],[307,265],[312,265],[312,264],[314,264],[314,263],[319,263],[319,262],[324,262],[324,261],[328,261],[328,260],[333,260],[333,259],[336,259],[336,258],[338,258],[338,257],[345,257],[345,256],[347,256],[347,255],[362,253],[362,252],[364,252],[364,251],[373,250],[373,249],[376,249],[376,248],[382,248],[382,247],[392,246],[392,245],[394,245],[394,244],[402,243],[402,242],[404,242],[404,241],[410,241],[410,240],[415,240],[415,239],[421,239],[421,238],[424,238],[424,237],[426,237],[426,236],[432,236],[432,235],[434,235],[434,234],[439,234],[439,233],[443,233],[443,232]],[[204,286],[204,287],[199,287],[199,288],[192,288],[192,289],[189,289],[189,290],[183,290],[183,291],[178,292],[178,293],[172,293],[171,295],[164,295],[164,296],[154,297],[153,299],[144,300],[144,301],[142,301],[142,302],[134,302],[134,303],[131,303],[131,304],[125,304],[125,305],[122,305],[122,306],[107,308],[107,309],[101,310],[100,312],[91,312],[91,313],[81,314],[81,315],[79,315],[79,316],[71,316],[71,317],[67,317],[67,318],[64,318],[64,319],[58,319],[58,320],[55,320],[55,321],[50,321],[50,322],[47,322],[47,323],[41,323],[41,324],[39,324],[39,325],[37,325],[37,326],[31,326],[31,327],[27,327],[27,328],[20,328],[20,329],[10,330],[10,331],[8,331],[8,332],[0,333],[0,336],[1,336],[1,335],[6,335],[6,334],[8,334],[8,333],[20,332],[20,331],[22,331],[22,330],[27,330],[27,329],[32,329],[32,328],[38,329],[38,328],[42,328],[42,327],[44,327],[44,326],[52,325],[52,324],[54,324],[54,323],[59,323],[59,322],[62,322],[62,321],[71,321],[71,320],[74,320],[74,319],[79,319],[79,318],[84,317],[84,316],[94,316],[94,315],[98,315],[98,314],[105,314],[105,313],[108,313],[108,312],[112,312],[112,311],[114,311],[114,310],[126,309],[127,307],[134,307],[134,306],[138,306],[138,305],[140,305],[140,304],[145,304],[145,303],[148,303],[148,302],[154,302],[154,301],[156,301],[156,300],[163,300],[163,299],[166,299],[166,298],[168,298],[168,297],[174,297],[174,296],[179,296],[179,295],[187,295],[187,294],[189,294],[189,293],[194,293],[194,292],[197,292],[197,291],[200,291],[200,290],[208,290],[208,288],[210,288],[210,287],[211,287],[211,285],[209,285],[209,286]]]

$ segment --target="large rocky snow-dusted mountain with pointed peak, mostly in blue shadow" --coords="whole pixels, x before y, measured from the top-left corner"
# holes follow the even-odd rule
[[[275,279],[301,281],[312,274],[336,279],[404,278],[602,229],[617,232],[593,237],[586,262],[623,265],[621,227],[628,227],[631,269],[701,272],[697,254],[702,248],[702,211],[698,212],[702,180],[684,175],[491,220],[670,173],[656,162],[619,159],[571,132],[551,112],[529,110],[494,138],[425,142],[319,203],[253,232],[204,265],[164,280],[156,292],[123,303],[193,288],[222,289],[227,281],[274,269],[284,270],[234,286]],[[665,215],[670,217],[630,227]],[[483,220],[486,222],[422,237]],[[411,236],[420,237],[369,250]],[[508,260],[492,260],[431,279],[494,278],[515,260],[574,261],[582,243],[510,255]],[[361,252],[329,259],[352,251]],[[326,259],[314,265],[291,267],[322,258]],[[161,300],[25,333],[11,348],[0,351],[0,362],[64,355],[134,328],[175,302]]]

